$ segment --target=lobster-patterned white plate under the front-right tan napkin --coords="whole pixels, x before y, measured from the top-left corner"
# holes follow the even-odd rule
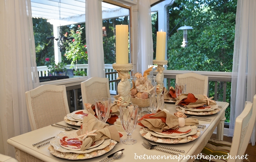
[[[184,126],[184,127],[177,127],[176,129],[168,129],[162,132],[156,132],[156,131],[154,132],[159,135],[165,135],[165,136],[180,136],[180,135],[186,135],[187,133],[191,132],[191,130],[192,130],[191,126]]]

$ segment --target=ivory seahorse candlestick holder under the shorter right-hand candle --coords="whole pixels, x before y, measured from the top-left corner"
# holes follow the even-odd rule
[[[156,75],[156,95],[159,95],[163,92],[163,70],[165,69],[163,65],[167,65],[167,60],[153,60],[153,64],[157,64],[158,67],[156,71],[158,71]]]

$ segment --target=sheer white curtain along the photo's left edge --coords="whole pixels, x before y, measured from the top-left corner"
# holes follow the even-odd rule
[[[25,92],[39,86],[30,0],[0,1],[0,153],[8,138],[30,131]]]

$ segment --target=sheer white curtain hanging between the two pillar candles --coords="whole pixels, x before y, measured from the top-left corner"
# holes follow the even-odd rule
[[[149,0],[139,0],[138,37],[137,71],[143,74],[148,67],[153,65],[153,38]]]

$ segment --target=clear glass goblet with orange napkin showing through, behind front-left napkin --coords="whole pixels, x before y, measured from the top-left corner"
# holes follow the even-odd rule
[[[111,99],[96,98],[94,100],[97,117],[100,121],[105,123],[109,118]]]

